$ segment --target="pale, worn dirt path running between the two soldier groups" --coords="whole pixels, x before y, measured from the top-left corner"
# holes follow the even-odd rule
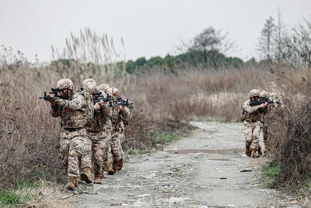
[[[243,153],[241,123],[191,122],[199,127],[163,151],[130,156],[103,185],[81,184],[71,201],[81,208],[270,207],[279,193],[259,186],[259,173]],[[240,169],[251,168],[251,172]],[[95,194],[98,193],[98,194]]]

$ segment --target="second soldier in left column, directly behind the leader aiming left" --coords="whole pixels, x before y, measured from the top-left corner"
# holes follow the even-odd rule
[[[98,87],[95,82],[86,82],[84,91],[90,93],[92,97],[95,97],[96,93],[99,93]],[[104,92],[100,92],[104,94]],[[110,109],[107,106],[107,102],[103,100],[100,103],[94,105],[94,116],[91,122],[86,124],[86,137],[92,141],[93,161],[94,161],[94,184],[102,184],[101,178],[104,177],[102,165],[103,165],[103,151],[106,146],[107,132],[105,132],[105,117],[110,116]]]

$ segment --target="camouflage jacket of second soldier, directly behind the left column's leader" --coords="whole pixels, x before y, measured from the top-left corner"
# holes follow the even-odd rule
[[[102,92],[102,95],[106,97],[104,92]],[[110,101],[107,103],[106,108],[101,107],[100,110],[94,109],[93,118],[86,123],[86,131],[100,132],[106,129],[105,125],[107,125],[107,123],[109,124],[109,117],[111,116],[112,112],[113,106],[111,105]]]

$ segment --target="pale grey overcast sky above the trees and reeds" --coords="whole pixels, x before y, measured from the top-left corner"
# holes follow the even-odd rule
[[[116,40],[127,59],[174,53],[180,39],[213,26],[229,32],[243,59],[256,56],[260,30],[277,7],[288,25],[310,18],[311,0],[0,0],[0,45],[34,59],[51,59],[70,32],[90,27]]]

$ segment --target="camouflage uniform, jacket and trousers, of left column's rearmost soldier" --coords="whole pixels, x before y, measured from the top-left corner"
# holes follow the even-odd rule
[[[124,123],[128,124],[131,120],[131,111],[125,106],[124,112],[119,113],[118,122],[114,125],[111,140],[111,153],[114,161],[119,161],[123,157],[122,142],[125,139]]]

